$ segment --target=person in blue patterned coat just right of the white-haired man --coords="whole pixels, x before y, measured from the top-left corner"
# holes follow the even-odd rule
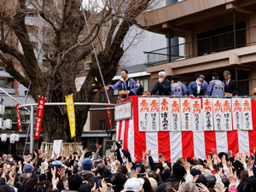
[[[177,82],[177,76],[172,76],[171,89],[172,96],[186,96],[188,94],[188,89],[185,84]]]

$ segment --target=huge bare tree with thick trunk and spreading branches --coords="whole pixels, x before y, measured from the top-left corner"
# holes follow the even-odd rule
[[[0,59],[21,84],[32,84],[31,94],[36,101],[38,96],[45,96],[47,102],[65,102],[65,96],[73,94],[75,102],[93,102],[93,90],[100,90],[102,81],[91,42],[96,44],[102,74],[108,83],[124,55],[122,44],[127,32],[143,11],[152,9],[152,3],[90,0],[84,1],[81,9],[80,0],[0,0]],[[84,60],[92,61],[92,66],[77,91],[75,78],[79,61]],[[75,107],[77,141],[81,139],[89,108]],[[43,132],[45,142],[70,140],[65,107],[44,109]]]

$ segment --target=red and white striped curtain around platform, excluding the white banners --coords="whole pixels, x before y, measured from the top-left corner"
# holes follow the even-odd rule
[[[133,119],[117,122],[116,139],[123,140],[123,147],[129,151],[131,158],[137,156],[142,160],[143,152],[151,149],[155,162],[159,162],[159,154],[167,161],[175,161],[179,157],[194,156],[205,159],[212,148],[219,152],[232,150],[237,152],[253,152],[256,147],[256,103],[252,100],[252,131],[139,131],[138,129],[138,97],[131,96]]]

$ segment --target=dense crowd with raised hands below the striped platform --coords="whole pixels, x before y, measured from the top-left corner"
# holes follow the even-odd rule
[[[101,191],[101,192],[253,192],[256,191],[256,148],[252,154],[212,152],[205,160],[190,157],[155,163],[151,151],[143,159],[131,158],[120,142],[111,154],[88,148],[79,157],[63,150],[50,159],[40,150],[34,154],[3,154],[0,192]],[[132,159],[132,161],[131,161]]]

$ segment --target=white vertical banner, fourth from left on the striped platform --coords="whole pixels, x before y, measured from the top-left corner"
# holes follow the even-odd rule
[[[170,98],[170,112],[171,112],[171,131],[181,131],[181,120],[180,120],[180,102],[179,98]]]

